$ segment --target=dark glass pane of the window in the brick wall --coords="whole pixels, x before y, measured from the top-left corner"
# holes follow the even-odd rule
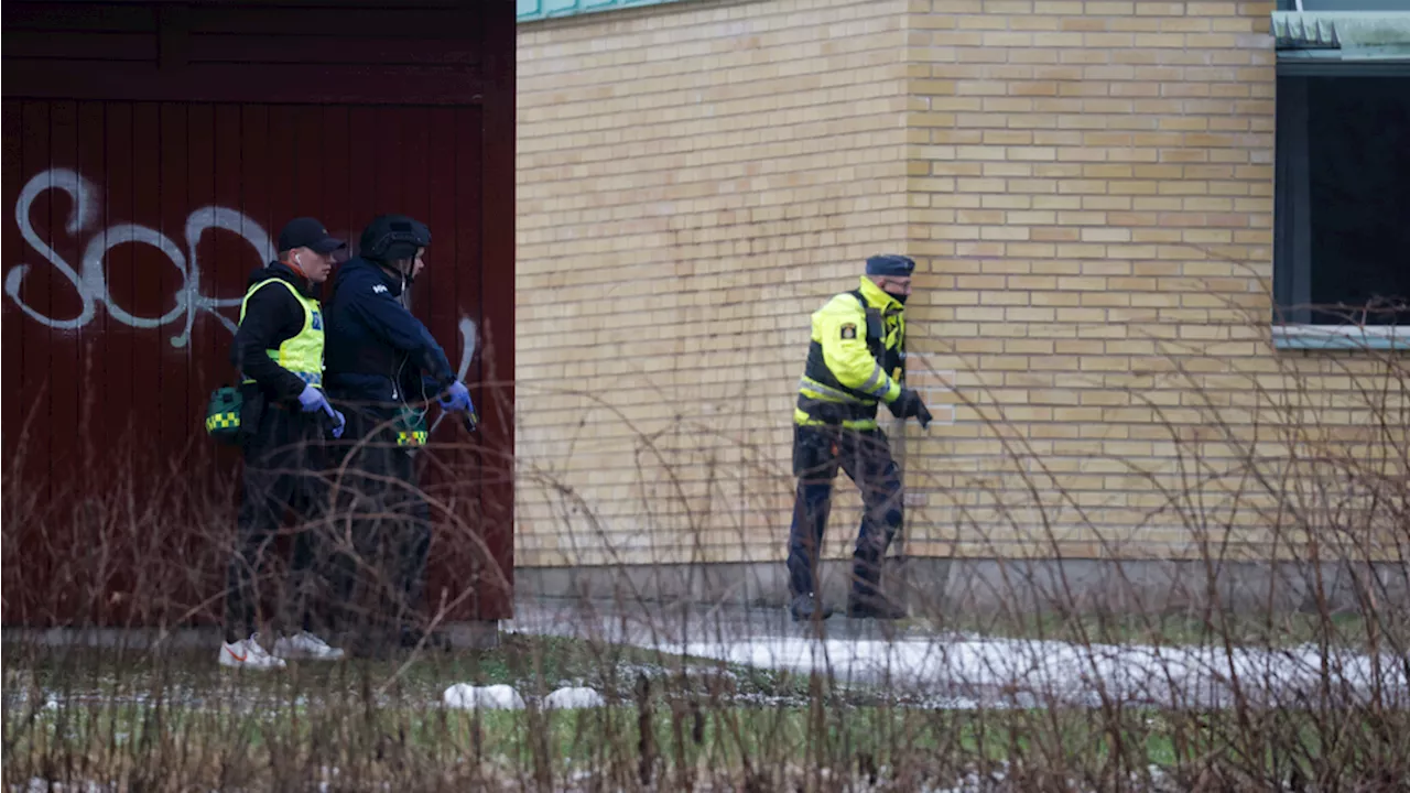
[[[1282,320],[1410,326],[1410,65],[1347,69],[1277,78]]]

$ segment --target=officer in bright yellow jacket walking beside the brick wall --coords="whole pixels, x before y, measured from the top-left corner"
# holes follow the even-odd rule
[[[829,299],[812,315],[812,343],[794,409],[792,467],[798,478],[788,536],[790,611],[795,621],[826,619],[816,597],[818,547],[840,467],[862,490],[862,528],[853,555],[847,615],[898,619],[905,611],[881,595],[881,557],[901,528],[901,477],[877,404],[897,418],[931,422],[921,396],[905,387],[905,299],[915,262],[881,254],[867,260],[859,289]]]

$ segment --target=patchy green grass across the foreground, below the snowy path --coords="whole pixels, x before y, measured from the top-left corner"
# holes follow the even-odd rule
[[[1163,641],[1197,629],[1170,628]],[[1410,714],[1402,713],[905,708],[880,701],[884,691],[859,694],[815,676],[729,667],[722,677],[715,662],[544,636],[274,673],[224,670],[210,652],[0,646],[0,669],[16,667],[32,680],[8,687],[0,706],[0,789],[31,776],[121,779],[147,790],[298,789],[338,769],[351,787],[458,790],[517,779],[565,789],[589,775],[630,789],[647,772],[658,782],[716,776],[733,789],[753,775],[753,789],[770,790],[792,782],[764,785],[759,775],[819,768],[863,777],[890,769],[943,787],[995,763],[1070,779],[1139,776],[1149,766],[1244,769],[1255,779],[1296,768],[1317,779],[1399,773],[1410,758]],[[611,704],[443,708],[453,683],[508,683],[530,706],[558,686],[588,684]]]

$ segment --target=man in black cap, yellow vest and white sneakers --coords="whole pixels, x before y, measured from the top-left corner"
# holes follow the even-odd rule
[[[240,547],[230,562],[226,591],[221,666],[278,669],[286,658],[343,655],[313,632],[314,610],[302,595],[293,598],[298,607],[282,604],[279,610],[286,635],[265,632],[261,639],[255,624],[255,579],[274,550],[285,508],[292,507],[309,522],[327,508],[320,440],[341,435],[345,422],[323,395],[323,312],[316,293],[333,270],[333,253],[343,247],[345,243],[330,237],[313,217],[289,222],[279,233],[279,260],[250,274],[240,303],[230,360],[243,375],[245,468]],[[296,577],[310,576],[313,553],[306,526],[295,539],[290,567]]]

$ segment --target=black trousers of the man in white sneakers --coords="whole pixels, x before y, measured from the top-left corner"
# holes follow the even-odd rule
[[[235,553],[226,576],[226,641],[250,636],[262,622],[289,631],[326,626],[327,605],[320,556],[329,495],[323,429],[316,416],[251,399],[241,418],[254,426],[243,442],[244,487],[237,518]],[[295,514],[288,576],[271,577],[275,540],[286,512]],[[262,601],[274,611],[262,614]]]

